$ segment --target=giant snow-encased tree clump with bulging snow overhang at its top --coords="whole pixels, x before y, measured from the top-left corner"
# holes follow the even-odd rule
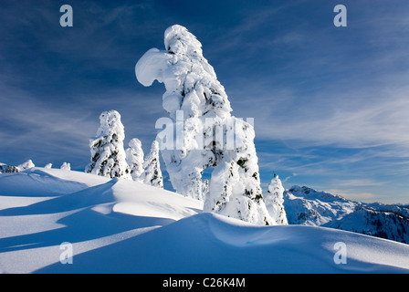
[[[135,74],[144,86],[154,80],[165,85],[163,109],[175,125],[176,143],[173,149],[163,147],[161,133],[157,140],[173,188],[205,200],[205,212],[276,224],[261,192],[253,126],[231,116],[225,89],[203,56],[202,44],[184,26],[175,25],[166,29],[164,47],[148,50]],[[202,174],[209,167],[215,169],[207,188]]]

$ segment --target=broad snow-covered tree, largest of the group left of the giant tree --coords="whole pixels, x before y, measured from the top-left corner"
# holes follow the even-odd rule
[[[123,149],[124,139],[120,113],[116,110],[102,112],[97,135],[89,140],[91,162],[85,172],[110,178],[131,179],[131,170]]]

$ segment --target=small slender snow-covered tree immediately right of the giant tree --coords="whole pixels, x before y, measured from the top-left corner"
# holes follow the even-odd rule
[[[264,195],[267,211],[277,224],[287,225],[287,214],[284,209],[284,187],[278,175],[274,173],[271,183],[268,184],[268,192]]]

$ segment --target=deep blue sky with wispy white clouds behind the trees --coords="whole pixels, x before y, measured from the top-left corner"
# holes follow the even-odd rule
[[[74,26],[59,26],[69,4]],[[335,5],[348,26],[335,27]],[[0,162],[83,171],[103,110],[149,151],[162,84],[134,66],[168,26],[203,44],[238,118],[254,118],[263,187],[294,184],[409,203],[409,3],[0,2]]]

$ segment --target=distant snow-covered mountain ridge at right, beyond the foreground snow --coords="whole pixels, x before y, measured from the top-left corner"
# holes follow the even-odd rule
[[[293,186],[284,193],[288,224],[325,226],[409,244],[409,208],[359,203],[340,195]]]

